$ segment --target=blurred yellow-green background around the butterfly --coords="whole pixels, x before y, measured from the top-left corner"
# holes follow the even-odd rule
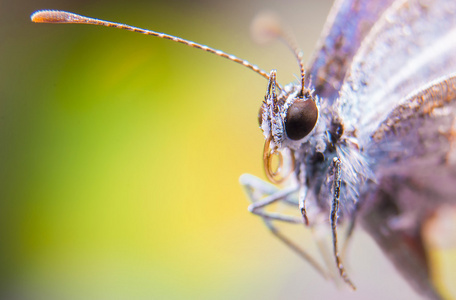
[[[287,83],[295,59],[253,43],[251,20],[277,12],[309,56],[330,5],[1,0],[1,299],[419,298],[361,230],[348,255],[353,293],[248,213],[238,177],[263,176],[262,77],[158,38],[29,19],[64,9],[167,32]],[[432,252],[450,289],[454,257]]]

